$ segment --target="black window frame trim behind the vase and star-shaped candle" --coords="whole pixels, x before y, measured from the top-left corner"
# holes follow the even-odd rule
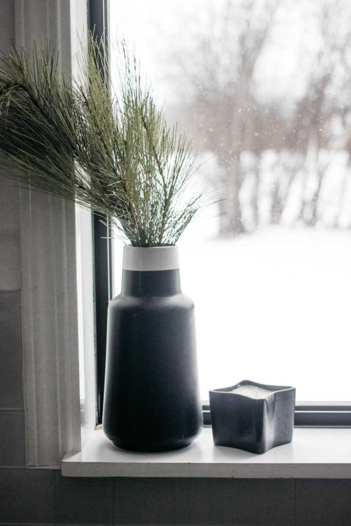
[[[88,0],[88,26],[108,45],[108,0]],[[102,422],[107,305],[112,294],[112,243],[101,216],[93,216],[97,424]],[[209,402],[203,402],[204,425],[210,426]],[[351,402],[297,402],[295,427],[351,427]]]

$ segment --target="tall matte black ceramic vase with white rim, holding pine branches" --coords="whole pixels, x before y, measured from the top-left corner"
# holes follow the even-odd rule
[[[103,429],[115,446],[188,446],[202,425],[194,304],[177,247],[125,247],[122,291],[108,306]]]

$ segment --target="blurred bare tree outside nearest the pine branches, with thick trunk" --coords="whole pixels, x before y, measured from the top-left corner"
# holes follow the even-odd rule
[[[245,176],[240,154],[260,150],[256,134],[260,108],[253,95],[253,74],[273,12],[270,0],[227,0],[222,11],[208,6],[207,30],[197,36],[191,59],[177,55],[185,77],[184,113],[195,118],[198,127],[193,139],[201,140],[201,147],[207,145],[217,158],[217,185],[219,180],[225,198],[222,211],[227,213],[221,217],[220,234],[226,236],[245,231],[239,198]],[[190,126],[189,122],[185,125]],[[258,175],[256,189],[257,185]]]

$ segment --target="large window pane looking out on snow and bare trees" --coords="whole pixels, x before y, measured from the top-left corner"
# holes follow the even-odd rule
[[[111,2],[110,41],[135,43],[206,161],[198,185],[224,199],[179,240],[203,399],[243,379],[351,399],[350,15],[347,0]]]

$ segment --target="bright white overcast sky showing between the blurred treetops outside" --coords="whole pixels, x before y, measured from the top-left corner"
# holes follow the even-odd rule
[[[233,0],[234,1],[234,0]],[[111,38],[124,34],[136,44],[142,66],[149,80],[159,89],[161,98],[172,98],[164,82],[169,72],[169,55],[188,38],[190,29],[205,31],[208,6],[220,11],[226,0],[121,0],[111,2]],[[296,99],[303,95],[305,72],[314,67],[313,57],[320,45],[316,17],[323,3],[335,5],[340,32],[348,23],[349,3],[337,14],[336,0],[283,0],[275,12],[274,31],[266,53],[257,64],[256,80],[264,98]],[[262,5],[260,2],[257,5]],[[220,28],[219,28],[220,31]],[[168,56],[167,56],[168,55]],[[173,86],[176,89],[176,86]]]

